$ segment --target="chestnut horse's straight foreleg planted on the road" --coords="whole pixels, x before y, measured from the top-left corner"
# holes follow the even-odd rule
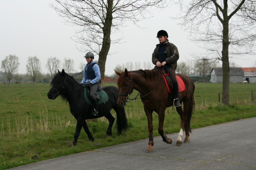
[[[152,110],[149,110],[144,105],[144,111],[146,113],[147,119],[148,119],[148,133],[149,133],[149,141],[148,141],[148,148],[146,150],[147,153],[153,152],[153,145],[154,145],[154,139],[153,139],[153,118],[152,118]]]

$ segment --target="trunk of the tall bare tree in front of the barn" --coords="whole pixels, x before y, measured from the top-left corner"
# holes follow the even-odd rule
[[[224,12],[223,12],[223,37],[222,37],[222,72],[223,72],[223,84],[222,84],[222,103],[225,105],[230,105],[229,103],[229,60],[228,60],[228,3],[224,4]]]

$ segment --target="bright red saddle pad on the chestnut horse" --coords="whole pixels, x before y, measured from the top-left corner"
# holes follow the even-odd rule
[[[163,75],[164,82],[165,82],[165,85],[166,85],[166,88],[167,88],[168,92],[172,93],[172,80],[169,76],[169,73],[166,73],[163,69],[162,75]],[[178,81],[179,92],[184,91],[185,90],[184,81],[178,75],[176,75],[176,79]]]

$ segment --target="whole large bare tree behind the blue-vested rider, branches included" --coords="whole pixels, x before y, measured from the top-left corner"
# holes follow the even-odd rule
[[[126,21],[137,23],[145,19],[149,7],[164,7],[166,0],[55,0],[51,7],[63,17],[68,24],[81,26],[76,32],[76,42],[83,45],[81,51],[92,51],[99,55],[100,74],[105,73],[105,64],[111,40],[110,34],[118,32]],[[169,2],[169,1],[167,1]],[[103,83],[104,77],[100,82]]]

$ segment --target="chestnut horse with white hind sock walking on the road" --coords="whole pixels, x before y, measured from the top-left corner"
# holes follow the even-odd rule
[[[129,96],[132,94],[133,89],[140,92],[139,98],[141,98],[144,105],[144,111],[148,118],[149,142],[146,152],[153,152],[153,111],[158,114],[158,133],[161,135],[164,142],[171,144],[172,139],[167,138],[166,134],[164,134],[163,124],[165,109],[173,106],[174,97],[172,93],[169,93],[167,90],[162,72],[159,70],[127,71],[125,68],[124,72],[119,73],[116,71],[116,74],[119,75],[117,80],[119,89],[117,104],[119,106],[124,106],[128,100],[132,100],[129,98]],[[183,91],[179,90],[179,99],[183,105],[183,110],[182,106],[176,107],[181,119],[180,132],[176,145],[180,146],[182,144],[181,138],[183,135],[183,129],[185,129],[186,134],[184,143],[189,142],[189,132],[191,132],[190,120],[192,113],[195,110],[195,84],[188,76],[184,74],[177,75],[181,78],[181,80],[177,79],[177,81],[183,81],[184,84],[182,85],[185,86]],[[134,99],[137,99],[137,97]]]

